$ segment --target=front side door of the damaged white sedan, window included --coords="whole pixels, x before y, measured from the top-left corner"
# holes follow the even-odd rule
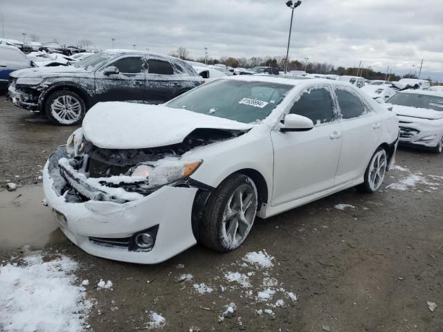
[[[328,85],[296,98],[289,113],[310,118],[309,131],[271,131],[274,183],[271,205],[287,203],[334,187],[343,131]]]

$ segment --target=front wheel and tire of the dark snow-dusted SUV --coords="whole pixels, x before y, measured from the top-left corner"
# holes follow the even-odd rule
[[[55,91],[46,100],[46,116],[60,126],[78,124],[82,121],[85,112],[84,100],[70,90]]]

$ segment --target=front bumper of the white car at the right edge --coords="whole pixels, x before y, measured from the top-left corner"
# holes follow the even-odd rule
[[[422,147],[436,147],[443,134],[443,120],[428,120],[398,116],[400,143]]]

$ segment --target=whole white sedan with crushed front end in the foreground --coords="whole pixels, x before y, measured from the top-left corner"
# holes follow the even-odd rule
[[[197,241],[227,252],[268,218],[392,165],[394,113],[331,80],[242,75],[163,105],[103,102],[44,167],[60,228],[92,255],[154,264]]]

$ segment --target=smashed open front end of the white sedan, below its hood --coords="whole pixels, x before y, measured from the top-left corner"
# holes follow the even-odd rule
[[[164,185],[210,187],[190,178],[203,160],[183,160],[187,152],[242,134],[242,131],[196,129],[183,142],[150,149],[103,149],[75,131],[66,147],[58,147],[48,160],[56,190],[67,202],[89,200],[127,203],[142,199]]]

